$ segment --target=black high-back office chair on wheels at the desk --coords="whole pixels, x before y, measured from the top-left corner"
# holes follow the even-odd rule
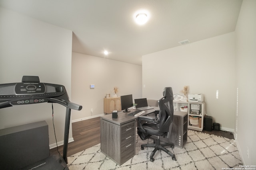
[[[176,160],[175,155],[167,150],[166,146],[170,146],[174,148],[173,143],[160,143],[160,136],[166,137],[167,133],[171,133],[169,129],[172,127],[173,122],[173,93],[171,87],[164,88],[163,96],[160,100],[158,100],[158,104],[160,110],[155,111],[155,116],[140,116],[138,117],[138,135],[140,139],[145,140],[148,139],[151,135],[157,136],[157,139],[154,139],[154,143],[152,144],[142,144],[141,150],[144,150],[144,147],[154,147],[155,149],[150,154],[150,161],[154,161],[154,154],[157,150],[163,150],[170,156],[172,156],[172,160]]]

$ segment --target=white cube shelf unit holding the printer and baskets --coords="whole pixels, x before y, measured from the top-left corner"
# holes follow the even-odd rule
[[[200,114],[192,114],[191,113],[191,104],[199,104],[200,106]],[[174,101],[173,102],[174,110],[181,111],[180,107],[188,106],[188,129],[193,129],[197,131],[202,131],[204,128],[204,115],[205,115],[205,109],[204,109],[204,102],[197,103],[197,102],[182,102],[182,101]],[[199,124],[198,125],[192,125],[190,124],[189,117],[190,116],[197,116],[199,117]]]

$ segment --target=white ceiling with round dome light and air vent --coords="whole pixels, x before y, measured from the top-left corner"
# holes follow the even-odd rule
[[[0,0],[73,31],[72,51],[142,65],[142,55],[235,31],[242,0]],[[147,10],[144,25],[134,21]],[[104,55],[104,50],[109,51]]]

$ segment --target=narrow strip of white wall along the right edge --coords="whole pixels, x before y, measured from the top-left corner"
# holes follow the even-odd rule
[[[244,0],[236,25],[238,111],[235,137],[245,165],[256,164],[256,1]],[[248,154],[247,154],[248,151]]]

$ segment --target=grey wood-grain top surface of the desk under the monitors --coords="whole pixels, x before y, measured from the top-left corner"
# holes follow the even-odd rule
[[[145,113],[142,113],[141,116],[150,114],[158,109],[159,109],[159,107],[153,107],[153,109],[144,110]],[[117,124],[117,125],[123,125],[125,123],[131,122],[131,121],[137,119],[136,116],[128,115],[129,113],[132,113],[134,111],[136,111],[136,109],[131,109],[130,112],[119,111],[118,117],[115,119],[112,119],[112,114],[107,114],[107,115],[101,116],[100,118],[105,121],[109,121],[111,123]],[[184,117],[187,114],[188,114],[188,112],[174,111],[174,116]]]

